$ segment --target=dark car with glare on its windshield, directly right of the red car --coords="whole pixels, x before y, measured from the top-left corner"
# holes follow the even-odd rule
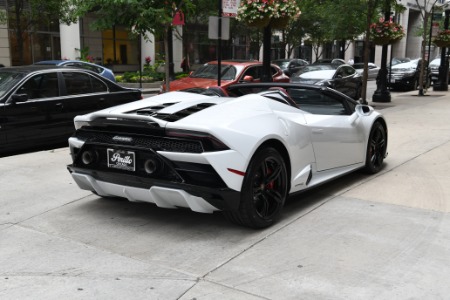
[[[290,82],[330,87],[355,100],[361,97],[362,77],[347,64],[312,64],[292,75]]]

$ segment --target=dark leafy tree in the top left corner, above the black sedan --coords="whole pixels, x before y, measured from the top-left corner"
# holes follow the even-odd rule
[[[60,20],[70,24],[72,6],[65,0],[9,0],[7,10],[0,12],[0,23],[13,29],[19,53],[19,64],[24,64],[24,41],[43,22]]]

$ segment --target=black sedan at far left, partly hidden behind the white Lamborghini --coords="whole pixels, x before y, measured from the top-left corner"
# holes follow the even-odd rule
[[[67,141],[73,118],[141,99],[97,73],[66,67],[0,69],[0,153]]]

